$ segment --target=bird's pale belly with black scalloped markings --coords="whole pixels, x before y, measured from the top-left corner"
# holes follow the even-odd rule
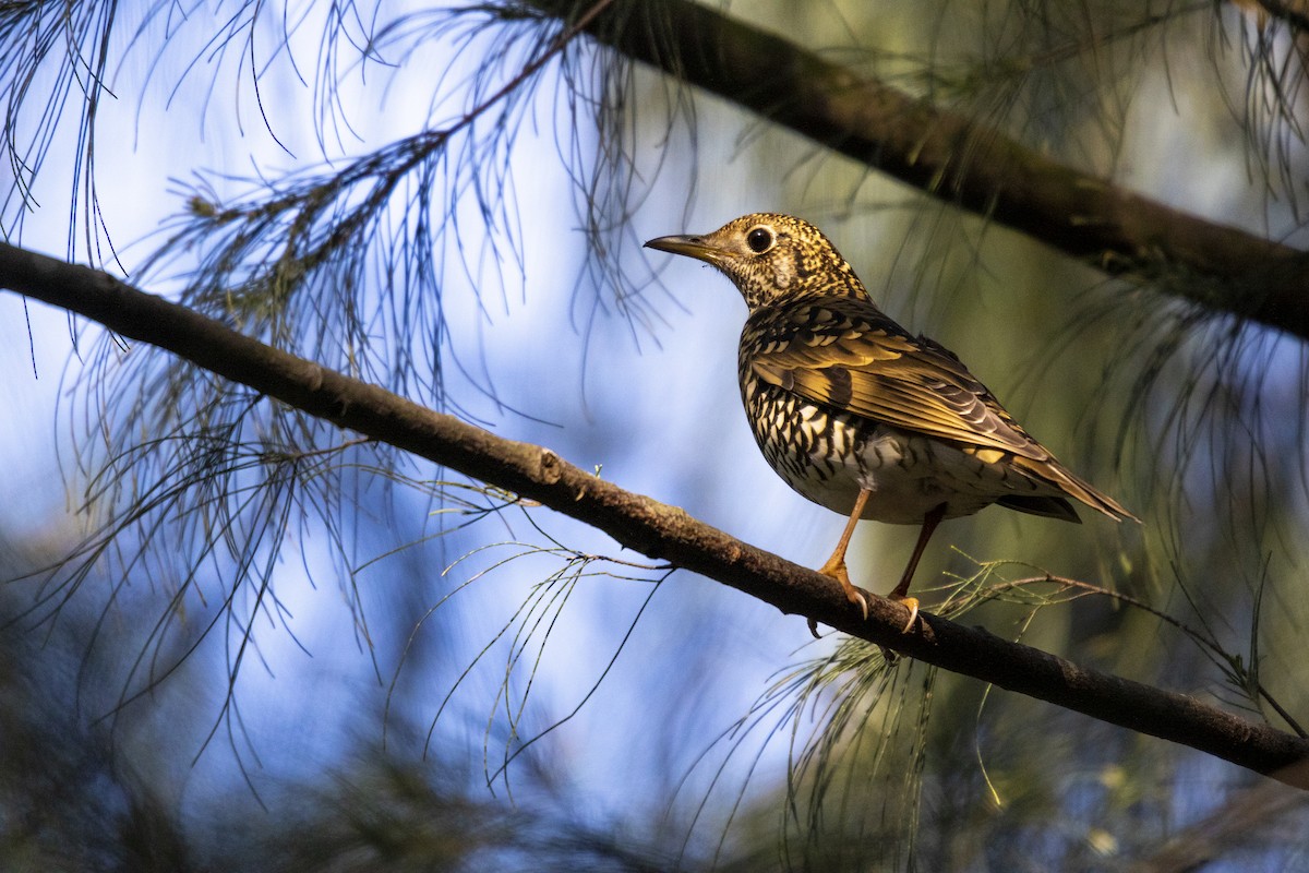
[[[763,397],[755,402],[768,404]],[[863,518],[899,525],[922,524],[941,504],[946,518],[958,518],[1007,495],[1047,491],[950,442],[795,398],[775,406],[789,408],[775,415],[747,410],[764,458],[792,488],[842,514],[853,510],[864,488],[872,493]]]

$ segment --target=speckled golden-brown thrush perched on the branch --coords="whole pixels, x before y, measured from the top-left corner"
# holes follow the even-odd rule
[[[751,213],[707,234],[645,247],[703,260],[736,284],[741,399],[770,466],[809,500],[847,517],[818,572],[850,581],[846,551],[860,520],[919,525],[888,596],[918,620],[910,584],[936,526],[997,504],[1080,524],[1069,499],[1115,521],[1139,521],[1062,465],[957,355],[914,336],[873,302],[850,263],[813,224]],[[810,619],[809,628],[817,636]]]

